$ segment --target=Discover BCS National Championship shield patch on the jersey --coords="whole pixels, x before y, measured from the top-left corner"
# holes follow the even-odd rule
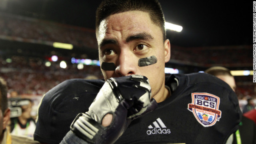
[[[204,127],[213,126],[221,118],[220,98],[208,93],[192,93],[192,103],[188,110],[193,112],[196,120]]]

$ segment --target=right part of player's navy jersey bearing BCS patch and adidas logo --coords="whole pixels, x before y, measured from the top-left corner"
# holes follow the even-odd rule
[[[170,98],[133,120],[116,144],[224,144],[238,129],[241,112],[233,90],[208,74],[174,74]],[[172,90],[172,88],[171,88]]]

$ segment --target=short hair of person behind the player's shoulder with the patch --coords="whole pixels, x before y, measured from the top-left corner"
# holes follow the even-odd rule
[[[204,72],[211,74],[213,76],[219,76],[219,75],[232,76],[232,74],[230,73],[230,70],[222,66],[213,66],[211,68],[208,68]]]

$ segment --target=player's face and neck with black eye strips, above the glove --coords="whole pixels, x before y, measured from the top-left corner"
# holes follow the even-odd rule
[[[148,13],[128,11],[108,16],[99,26],[97,40],[100,64],[107,63],[107,68],[101,69],[105,80],[143,75],[149,79],[152,96],[162,94],[165,89],[164,66],[170,59],[170,42],[163,42],[161,28],[152,22]],[[143,63],[150,56],[155,56],[157,62],[149,58],[152,60],[149,64]],[[112,66],[108,65],[110,63]]]

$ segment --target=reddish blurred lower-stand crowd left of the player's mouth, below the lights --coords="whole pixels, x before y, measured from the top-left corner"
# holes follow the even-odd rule
[[[4,60],[0,61],[3,62]],[[86,78],[94,75],[103,78],[99,66],[86,65],[78,70],[77,64],[68,65],[66,69],[60,68],[59,63],[52,62],[50,67],[37,62],[12,61],[0,64],[0,74],[8,83],[9,90],[19,94],[43,95],[48,90],[71,78]]]

